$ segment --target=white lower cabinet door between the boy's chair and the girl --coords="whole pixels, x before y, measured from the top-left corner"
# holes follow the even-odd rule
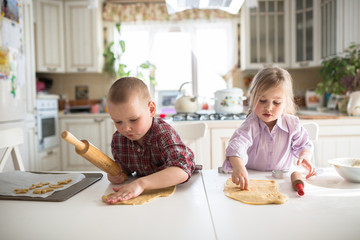
[[[235,128],[218,128],[211,130],[211,168],[221,167],[225,160],[225,150]]]

